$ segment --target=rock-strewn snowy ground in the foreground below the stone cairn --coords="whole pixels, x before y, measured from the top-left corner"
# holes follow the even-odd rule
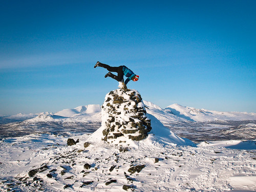
[[[137,146],[90,145],[89,135],[68,137],[32,134],[1,141],[0,188],[15,191],[254,191],[255,150],[234,150],[234,143],[198,147],[163,145],[148,140]],[[245,143],[255,145],[256,141]],[[241,147],[242,148],[242,147]],[[158,161],[158,162],[157,162]],[[90,164],[91,168],[84,167]],[[46,165],[46,166],[45,166]],[[131,166],[143,165],[137,173]],[[39,169],[29,177],[29,171]],[[42,172],[41,172],[42,171]],[[50,178],[52,177],[52,178]],[[113,182],[109,185],[108,182]],[[130,190],[131,190],[130,189]]]

